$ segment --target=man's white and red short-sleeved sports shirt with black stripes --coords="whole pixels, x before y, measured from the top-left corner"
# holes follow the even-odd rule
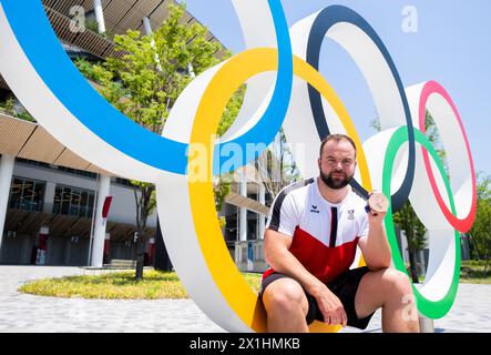
[[[368,235],[366,202],[352,190],[338,204],[326,201],[318,179],[280,191],[269,211],[267,229],[293,237],[289,252],[327,283],[349,270],[361,236]],[[267,270],[263,278],[275,271]]]

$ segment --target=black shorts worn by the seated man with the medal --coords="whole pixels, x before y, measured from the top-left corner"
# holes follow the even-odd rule
[[[370,322],[375,313],[374,312],[369,316],[359,320],[355,310],[355,296],[358,291],[358,286],[360,284],[361,277],[364,277],[364,275],[368,272],[369,268],[367,266],[348,270],[344,274],[339,275],[335,281],[327,283],[329,290],[339,298],[339,301],[341,301],[342,306],[345,307],[346,315],[348,317],[348,325],[360,329],[365,329],[368,326],[368,323]],[[260,300],[263,298],[263,292],[266,290],[266,287],[270,283],[283,277],[289,276],[279,273],[273,273],[264,278],[260,284]],[[320,312],[319,306],[317,305],[316,298],[308,294],[305,288],[304,292],[308,301],[308,312],[306,316],[307,324],[310,324],[314,321],[324,322],[324,315]]]

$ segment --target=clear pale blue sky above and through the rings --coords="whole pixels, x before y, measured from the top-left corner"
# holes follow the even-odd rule
[[[186,0],[187,9],[234,53],[244,50],[231,0]],[[491,174],[491,1],[489,0],[282,0],[288,24],[329,4],[348,6],[378,32],[409,87],[436,80],[462,118],[477,171]],[[418,31],[402,30],[402,9],[418,11]],[[329,58],[329,64],[327,64]],[[320,72],[336,89],[365,141],[376,116],[361,73],[337,44],[325,40]]]

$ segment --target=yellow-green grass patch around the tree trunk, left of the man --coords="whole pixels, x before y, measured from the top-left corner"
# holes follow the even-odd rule
[[[134,280],[134,271],[101,275],[65,276],[32,281],[18,291],[52,297],[100,300],[180,300],[188,298],[175,272],[144,271],[143,281]],[[259,274],[244,273],[253,292],[258,292]]]

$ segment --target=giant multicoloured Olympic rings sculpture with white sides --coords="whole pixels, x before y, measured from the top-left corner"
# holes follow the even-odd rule
[[[418,310],[431,318],[444,316],[459,282],[459,232],[471,227],[477,204],[471,151],[450,95],[434,81],[405,89],[376,31],[346,7],[327,7],[288,29],[279,0],[233,3],[247,50],[184,90],[162,136],[125,118],[89,85],[60,45],[41,1],[25,6],[0,0],[0,72],[38,122],[70,150],[117,175],[156,184],[165,244],[178,277],[222,327],[264,332],[266,318],[229,256],[212,178],[256,159],[262,150],[250,153],[247,145],[266,148],[282,125],[288,141],[303,143],[305,156],[311,158],[295,156],[305,176],[318,173],[314,158],[328,133],[354,139],[359,153],[352,186],[361,194],[377,189],[391,197],[386,230],[393,266],[405,273],[392,212],[409,199],[429,231],[431,251],[426,282],[413,286]],[[318,72],[325,38],[351,55],[372,93],[382,131],[364,143],[341,100]],[[214,133],[222,112],[244,82],[241,113],[217,143]],[[450,181],[424,136],[427,110],[447,152]],[[206,179],[192,179],[196,145],[209,155]],[[231,153],[238,154],[238,163],[221,161]],[[310,325],[314,332],[338,329],[319,322]]]

